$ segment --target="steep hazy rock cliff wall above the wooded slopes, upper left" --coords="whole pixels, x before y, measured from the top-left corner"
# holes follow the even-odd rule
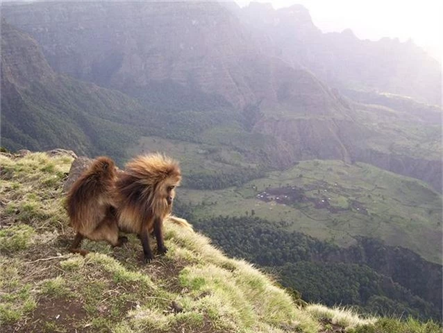
[[[42,45],[51,66],[131,93],[172,80],[237,108],[262,99],[324,96],[317,78],[272,58],[219,3],[33,3],[5,8]],[[318,92],[316,92],[318,90]],[[317,96],[312,101],[317,100]],[[310,105],[305,107],[310,112]]]

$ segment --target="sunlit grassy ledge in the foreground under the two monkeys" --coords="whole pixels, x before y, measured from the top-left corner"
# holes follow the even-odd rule
[[[94,253],[69,254],[61,189],[72,158],[0,162],[2,332],[440,332],[432,322],[298,306],[269,276],[169,223],[169,252],[149,265],[132,236],[124,248],[86,241]]]

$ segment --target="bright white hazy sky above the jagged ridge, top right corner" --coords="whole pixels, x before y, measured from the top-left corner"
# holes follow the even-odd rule
[[[240,6],[249,1],[236,0]],[[274,8],[299,3],[308,8],[321,31],[341,32],[351,28],[360,39],[412,38],[415,44],[432,48],[440,56],[443,49],[442,0],[273,0]]]

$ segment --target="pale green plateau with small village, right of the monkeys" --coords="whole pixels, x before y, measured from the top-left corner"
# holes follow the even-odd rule
[[[197,218],[253,214],[340,246],[374,237],[442,260],[440,194],[369,164],[310,160],[240,187],[179,191]]]

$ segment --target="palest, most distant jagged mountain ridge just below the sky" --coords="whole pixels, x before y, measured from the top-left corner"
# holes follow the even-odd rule
[[[328,84],[347,89],[375,88],[442,105],[441,66],[410,40],[360,40],[349,28],[341,33],[322,33],[301,5],[274,10],[251,2],[233,11],[265,35],[261,40],[269,52],[310,69]]]

